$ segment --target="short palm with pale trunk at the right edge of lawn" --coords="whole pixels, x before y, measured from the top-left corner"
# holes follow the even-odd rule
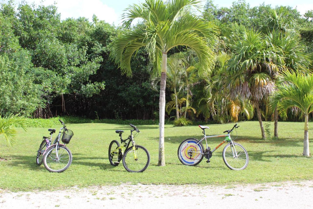
[[[303,75],[284,72],[277,80],[277,90],[270,97],[270,106],[277,107],[279,115],[286,119],[291,108],[301,110],[305,118],[303,155],[310,156],[309,114],[313,112],[313,74]]]

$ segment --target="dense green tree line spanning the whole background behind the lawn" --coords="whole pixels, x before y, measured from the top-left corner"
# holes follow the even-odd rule
[[[234,98],[235,93],[228,87],[236,86],[236,80],[228,80],[231,82],[228,87],[225,83],[228,78],[234,78],[229,76],[230,72],[237,72],[231,67],[232,62],[242,63],[249,72],[246,64],[255,56],[253,50],[263,50],[268,55],[265,59],[254,57],[258,59],[254,65],[266,62],[274,67],[263,66],[262,74],[258,74],[263,76],[259,78],[268,76],[265,78],[268,83],[275,81],[275,73],[280,70],[312,68],[309,61],[312,55],[308,54],[313,52],[312,11],[301,16],[291,7],[271,8],[264,3],[252,8],[244,0],[234,2],[230,8],[219,8],[212,1],[206,3],[203,18],[219,29],[217,43],[210,45],[216,54],[211,74],[197,75],[198,58],[186,47],[168,51],[168,56],[182,51],[182,70],[175,78],[170,70],[167,73],[167,118],[177,117],[177,106],[178,116],[192,121],[223,123],[256,119],[258,114],[254,112],[251,97],[242,94]],[[0,26],[0,114],[157,121],[159,83],[149,71],[153,65],[146,49],[137,51],[131,58],[132,78],[121,75],[109,57],[110,43],[125,30],[123,27],[97,17],[92,22],[83,17],[61,20],[55,6],[27,3],[18,5],[17,10],[12,3],[1,4]],[[140,29],[142,25],[131,27]],[[247,30],[255,34],[259,45],[250,49],[249,56],[239,58],[243,52],[240,47],[251,44],[244,42],[249,34]],[[299,55],[302,60],[296,59]],[[293,64],[294,61],[299,64]],[[181,73],[188,67],[193,67],[195,74]],[[246,74],[244,79],[251,76]],[[244,81],[240,79],[237,82]],[[267,96],[259,102],[262,119],[271,120]],[[300,114],[288,114],[289,120],[302,119]]]

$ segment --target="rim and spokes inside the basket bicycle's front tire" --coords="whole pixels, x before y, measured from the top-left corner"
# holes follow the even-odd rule
[[[56,154],[56,149],[51,149],[47,154],[46,164],[49,169],[54,172],[60,171],[67,167],[70,163],[70,153],[64,147],[59,147],[58,156]]]

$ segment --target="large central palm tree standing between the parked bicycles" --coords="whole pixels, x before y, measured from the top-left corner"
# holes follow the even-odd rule
[[[160,136],[159,166],[165,166],[164,117],[167,53],[177,46],[186,46],[198,56],[200,74],[207,74],[212,68],[213,48],[217,28],[214,24],[199,19],[193,8],[199,8],[198,0],[146,0],[133,4],[123,14],[124,30],[112,42],[111,57],[121,68],[122,74],[131,76],[131,57],[145,47],[154,70],[161,71],[160,83]],[[134,19],[142,24],[131,28]]]

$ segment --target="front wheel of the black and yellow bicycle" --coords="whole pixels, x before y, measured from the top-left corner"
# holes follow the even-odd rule
[[[150,155],[145,147],[129,147],[123,155],[123,165],[128,172],[143,172],[150,163]]]

